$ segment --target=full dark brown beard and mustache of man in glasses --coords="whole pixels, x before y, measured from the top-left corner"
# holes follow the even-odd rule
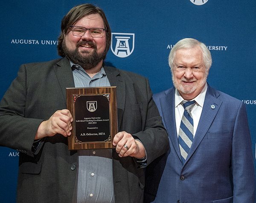
[[[93,52],[87,53],[86,51],[84,51],[82,53],[85,53],[86,55],[82,55],[79,53],[78,48],[79,48],[79,46],[86,45],[86,44],[92,46]],[[70,50],[69,48],[67,48],[66,42],[64,40],[62,48],[63,48],[63,52],[67,56],[67,58],[70,59],[70,61],[72,61],[74,64],[81,65],[81,67],[84,68],[84,70],[89,70],[91,68],[96,67],[96,65],[98,65],[99,62],[101,62],[103,59],[105,59],[105,56],[106,56],[105,51],[103,53],[97,54],[96,45],[90,41],[79,42],[76,45],[75,50]]]

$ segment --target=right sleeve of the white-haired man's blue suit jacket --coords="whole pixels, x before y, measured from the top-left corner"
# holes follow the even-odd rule
[[[244,103],[239,107],[232,141],[233,203],[255,202],[252,144]]]

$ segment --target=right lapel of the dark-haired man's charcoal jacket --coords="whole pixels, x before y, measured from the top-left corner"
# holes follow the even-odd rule
[[[125,81],[120,75],[118,69],[113,67],[104,67],[105,72],[108,76],[108,80],[111,86],[116,86],[116,103],[117,103],[117,116],[118,116],[118,129],[120,129],[123,112],[125,109]]]

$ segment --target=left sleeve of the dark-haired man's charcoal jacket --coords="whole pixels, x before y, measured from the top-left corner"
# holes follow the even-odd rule
[[[26,65],[21,65],[0,102],[0,145],[33,155],[32,146],[38,126],[43,121],[26,118],[27,100]],[[34,87],[36,88],[36,87]]]

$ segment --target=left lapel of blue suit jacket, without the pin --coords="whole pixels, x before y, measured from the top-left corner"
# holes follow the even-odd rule
[[[167,90],[165,94],[166,96],[160,98],[163,122],[177,156],[180,158],[180,162],[182,162],[175,124],[175,88]]]

